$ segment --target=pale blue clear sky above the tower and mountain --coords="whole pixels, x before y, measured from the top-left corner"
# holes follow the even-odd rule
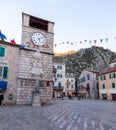
[[[7,41],[21,44],[22,12],[55,23],[56,52],[92,45],[116,52],[116,0],[1,0],[0,29]]]

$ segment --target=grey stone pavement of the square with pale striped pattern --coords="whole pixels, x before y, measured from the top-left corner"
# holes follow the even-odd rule
[[[40,107],[0,106],[0,130],[116,130],[116,102],[58,99]]]

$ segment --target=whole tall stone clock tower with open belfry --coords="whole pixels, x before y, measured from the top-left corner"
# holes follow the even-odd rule
[[[22,13],[22,42],[20,47],[17,104],[32,103],[32,93],[36,80],[39,80],[41,104],[50,104],[52,102],[53,27],[54,22]],[[40,72],[42,72],[41,80]]]

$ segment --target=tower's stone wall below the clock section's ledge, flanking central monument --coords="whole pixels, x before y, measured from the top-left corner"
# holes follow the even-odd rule
[[[35,50],[20,49],[17,104],[32,104],[32,93],[35,86],[35,75],[31,74]],[[52,54],[41,52],[44,75],[40,81],[41,102],[52,102],[53,64]]]

